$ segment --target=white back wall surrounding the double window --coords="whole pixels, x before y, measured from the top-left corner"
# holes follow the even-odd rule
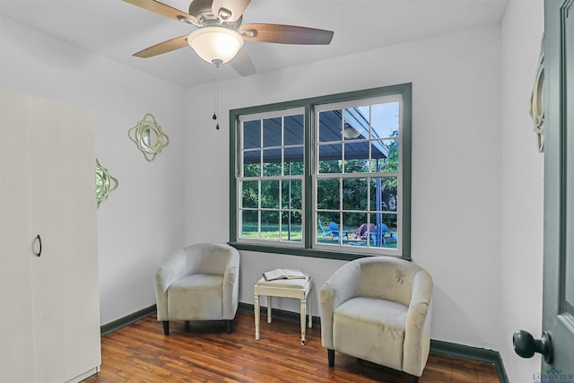
[[[257,63],[256,63],[257,66]],[[186,242],[229,239],[227,110],[396,83],[413,83],[413,259],[435,280],[434,339],[489,349],[500,308],[500,26],[462,31],[187,92]],[[196,97],[204,94],[203,98]],[[209,179],[202,184],[202,179]],[[317,288],[341,261],[242,252],[239,300],[279,265],[313,274]],[[317,313],[317,292],[313,297]],[[296,302],[278,307],[298,311]]]

